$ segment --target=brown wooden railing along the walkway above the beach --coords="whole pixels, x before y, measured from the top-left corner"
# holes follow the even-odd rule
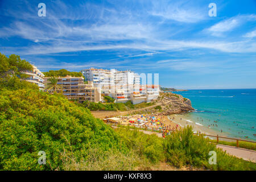
[[[121,124],[121,123],[106,122],[106,124],[112,125],[112,126],[116,126],[116,127],[119,127],[120,125],[121,125],[121,126],[128,126],[130,129],[138,128],[139,130],[146,130],[146,131],[152,131],[152,132],[158,132],[158,133],[165,132],[166,130],[168,130],[168,131],[176,131],[176,130],[171,130],[171,129],[159,129],[159,128],[146,127],[146,126],[135,126],[135,125],[130,126],[130,125],[125,125],[125,124]],[[218,143],[218,139],[219,139],[219,138],[225,138],[225,139],[230,139],[230,140],[236,140],[236,141],[237,141],[237,147],[239,147],[239,141],[256,143],[256,142],[251,141],[251,140],[243,140],[243,139],[229,138],[229,137],[220,137],[220,136],[218,136],[218,135],[207,135],[207,134],[199,134],[199,133],[193,133],[193,134],[194,134],[194,135],[203,135],[203,136],[208,136],[208,137],[216,137],[216,138],[217,138],[217,143]]]

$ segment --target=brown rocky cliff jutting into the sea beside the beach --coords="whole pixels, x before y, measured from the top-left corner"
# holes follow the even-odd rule
[[[158,102],[162,104],[162,113],[164,115],[180,114],[193,109],[191,101],[179,94],[162,93],[158,98]]]

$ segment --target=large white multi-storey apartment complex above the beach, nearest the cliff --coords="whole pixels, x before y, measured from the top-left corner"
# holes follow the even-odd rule
[[[101,93],[113,97],[115,102],[130,100],[133,104],[139,104],[159,96],[159,89],[155,89],[155,86],[142,86],[140,76],[131,71],[89,68],[81,72],[85,81],[93,81],[94,86],[101,88]]]

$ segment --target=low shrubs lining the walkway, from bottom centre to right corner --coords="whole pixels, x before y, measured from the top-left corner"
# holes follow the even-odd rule
[[[166,139],[146,135],[138,130],[117,129],[129,148],[138,151],[150,163],[167,162],[171,166],[213,170],[256,170],[255,163],[227,155],[208,138],[193,135],[192,127],[186,127],[168,135]],[[209,151],[216,151],[217,164],[209,164]]]

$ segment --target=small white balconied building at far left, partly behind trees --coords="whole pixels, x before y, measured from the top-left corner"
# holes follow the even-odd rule
[[[39,86],[40,90],[44,89],[44,74],[40,72],[38,68],[36,68],[34,65],[32,65],[33,70],[32,71],[26,71],[24,72],[26,75],[29,75],[30,77],[26,78],[26,81],[32,82]]]

